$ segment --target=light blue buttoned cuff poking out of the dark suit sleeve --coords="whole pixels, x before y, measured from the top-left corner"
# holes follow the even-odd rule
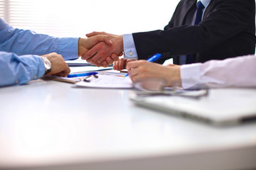
[[[132,34],[124,34],[123,35],[124,41],[124,59],[125,60],[137,60],[137,50],[134,44],[134,39]]]

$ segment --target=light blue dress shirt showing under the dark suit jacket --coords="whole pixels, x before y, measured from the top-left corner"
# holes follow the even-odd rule
[[[203,6],[205,6],[205,8],[203,9],[203,14],[204,14],[207,6],[210,4],[210,0],[198,0],[198,1],[201,1]],[[196,16],[196,13],[195,13],[195,16]],[[195,17],[194,17],[192,23],[195,23]],[[136,50],[136,47],[135,47],[135,43],[134,43],[134,39],[132,37],[132,34],[124,34],[123,35],[123,42],[124,42],[124,59],[126,59],[126,60],[137,60],[138,55],[137,55],[137,50]],[[186,61],[186,56],[184,56],[184,57],[185,57],[184,60]],[[185,63],[182,62],[181,64],[185,64]]]

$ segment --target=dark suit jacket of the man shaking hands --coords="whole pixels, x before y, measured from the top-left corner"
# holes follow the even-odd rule
[[[163,63],[196,54],[196,62],[255,53],[255,0],[211,0],[198,26],[191,26],[196,0],[181,0],[164,30],[133,33],[139,60],[159,52]]]

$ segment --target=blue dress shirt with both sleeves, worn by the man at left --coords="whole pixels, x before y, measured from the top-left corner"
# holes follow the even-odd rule
[[[26,84],[46,72],[39,55],[56,52],[78,58],[79,38],[55,38],[9,26],[0,18],[0,86]]]

